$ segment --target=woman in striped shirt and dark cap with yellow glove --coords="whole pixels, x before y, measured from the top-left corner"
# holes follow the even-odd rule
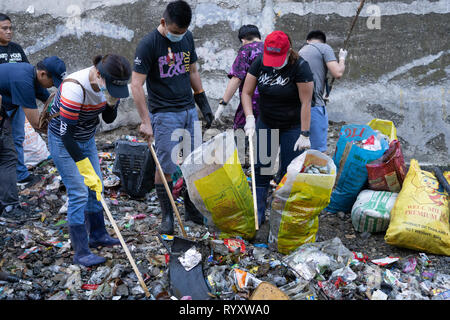
[[[120,244],[105,229],[100,201],[102,174],[95,145],[100,123],[116,119],[120,98],[128,97],[131,65],[126,58],[109,54],[94,58],[94,65],[67,76],[53,100],[49,124],[50,153],[67,189],[70,239],[74,263],[92,266],[105,258],[89,247]]]

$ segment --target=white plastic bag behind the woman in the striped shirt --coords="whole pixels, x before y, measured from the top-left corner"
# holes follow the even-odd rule
[[[25,139],[23,141],[23,159],[27,168],[37,166],[50,157],[45,141],[33,129],[25,118]]]

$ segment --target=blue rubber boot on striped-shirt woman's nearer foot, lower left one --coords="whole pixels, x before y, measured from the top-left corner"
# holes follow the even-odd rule
[[[86,226],[84,224],[73,224],[69,226],[70,241],[72,242],[75,255],[73,263],[85,267],[105,263],[106,259],[99,257],[89,250]]]

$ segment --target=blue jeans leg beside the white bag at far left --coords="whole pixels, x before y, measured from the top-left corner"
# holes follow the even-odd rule
[[[23,142],[25,140],[25,112],[21,107],[17,108],[14,118],[12,118],[12,134],[14,138],[14,146],[17,152],[17,181],[28,178],[30,173],[25,166],[24,154],[23,154]]]

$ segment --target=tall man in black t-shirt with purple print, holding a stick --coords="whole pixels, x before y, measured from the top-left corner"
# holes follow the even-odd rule
[[[155,141],[158,161],[170,188],[171,176],[177,170],[176,147],[180,143],[172,140],[172,134],[176,134],[177,129],[189,132],[188,150],[185,146],[189,141],[183,141],[183,155],[187,155],[194,147],[194,122],[198,120],[195,103],[207,127],[213,120],[195,64],[197,54],[192,33],[188,30],[191,19],[192,11],[185,1],[167,5],[159,26],[148,33],[136,49],[131,81],[131,91],[142,120],[140,133],[148,139],[149,146]],[[143,89],[145,82],[148,107]],[[162,210],[160,232],[173,234],[173,209],[158,171],[155,188]]]

